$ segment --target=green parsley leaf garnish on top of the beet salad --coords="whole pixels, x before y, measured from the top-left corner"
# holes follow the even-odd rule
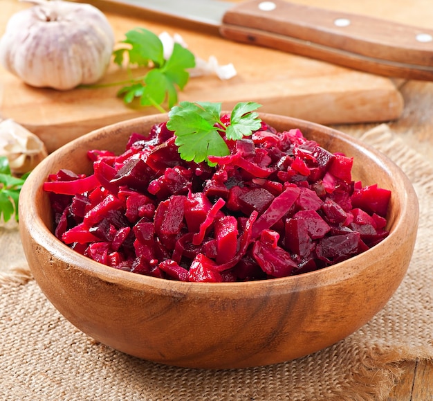
[[[169,112],[167,128],[174,131],[175,144],[185,161],[201,163],[209,156],[228,156],[230,150],[226,139],[236,141],[259,130],[261,120],[254,112],[261,105],[255,102],[238,103],[230,114],[230,123],[221,121],[221,103],[181,102]]]

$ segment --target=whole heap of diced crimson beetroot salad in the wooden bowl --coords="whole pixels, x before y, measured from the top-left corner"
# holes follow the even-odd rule
[[[388,235],[389,190],[351,181],[353,160],[300,130],[261,125],[240,141],[221,130],[230,154],[213,167],[181,160],[165,123],[118,156],[90,150],[93,175],[44,184],[55,235],[116,269],[218,283],[322,269]]]

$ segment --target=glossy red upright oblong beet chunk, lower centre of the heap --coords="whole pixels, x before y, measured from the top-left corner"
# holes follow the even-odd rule
[[[233,216],[224,216],[215,222],[216,263],[228,262],[237,251],[237,220]]]

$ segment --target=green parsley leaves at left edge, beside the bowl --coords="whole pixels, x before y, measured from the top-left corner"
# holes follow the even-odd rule
[[[0,220],[8,222],[15,215],[18,221],[18,198],[21,187],[30,172],[22,177],[13,177],[10,172],[8,158],[0,157]]]

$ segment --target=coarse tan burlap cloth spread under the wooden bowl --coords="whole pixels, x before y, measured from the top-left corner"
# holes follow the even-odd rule
[[[421,218],[407,276],[358,332],[274,366],[205,371],[152,364],[98,344],[68,323],[31,277],[16,248],[16,228],[2,229],[2,253],[18,262],[0,269],[0,400],[385,399],[400,375],[399,362],[433,359],[433,166],[386,126],[362,140],[407,173]]]

